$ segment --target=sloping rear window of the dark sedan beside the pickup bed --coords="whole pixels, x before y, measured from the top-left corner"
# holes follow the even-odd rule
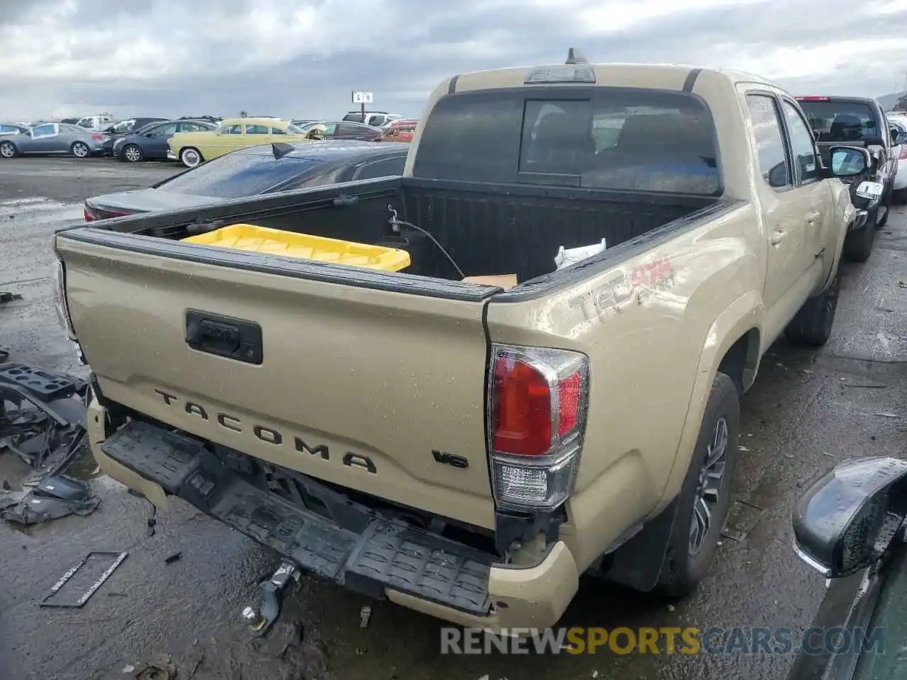
[[[310,173],[320,164],[320,160],[297,156],[276,159],[270,153],[228,153],[164,180],[155,188],[217,199],[240,199]]]

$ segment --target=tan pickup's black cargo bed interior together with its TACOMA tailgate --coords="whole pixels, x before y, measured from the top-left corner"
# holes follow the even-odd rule
[[[105,403],[346,490],[493,529],[483,396],[491,302],[570,285],[725,206],[396,178],[104,220],[60,232],[55,248],[74,335]],[[175,240],[244,222],[400,245],[392,210],[430,232],[466,276],[516,274],[532,285],[501,295],[463,283],[428,237],[406,227],[399,236],[412,266],[393,273]],[[561,245],[601,238],[609,248],[598,264],[551,275]],[[445,454],[462,466],[440,464]]]

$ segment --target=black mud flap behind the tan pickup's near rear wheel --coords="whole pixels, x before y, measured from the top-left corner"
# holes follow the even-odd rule
[[[672,500],[658,517],[606,557],[610,565],[603,574],[605,578],[644,593],[658,586],[677,505],[677,499]]]

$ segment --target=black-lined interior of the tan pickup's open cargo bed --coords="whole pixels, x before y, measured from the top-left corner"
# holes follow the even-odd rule
[[[399,237],[392,234],[388,220],[394,209],[399,219],[442,244],[465,276],[516,274],[522,283],[554,271],[561,246],[585,246],[605,238],[608,248],[614,248],[718,200],[395,178],[115,219],[100,228],[173,239],[194,233],[191,223],[198,229],[199,223],[216,228],[248,222],[404,248],[412,257],[405,273],[459,281],[449,260],[422,232],[404,227]]]

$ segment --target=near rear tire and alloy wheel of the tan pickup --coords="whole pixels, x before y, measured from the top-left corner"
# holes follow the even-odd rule
[[[712,568],[730,508],[739,432],[739,393],[734,381],[719,373],[678,496],[674,528],[656,587],[663,596],[688,595]],[[717,481],[715,475],[720,475]],[[708,512],[702,510],[703,505]]]

